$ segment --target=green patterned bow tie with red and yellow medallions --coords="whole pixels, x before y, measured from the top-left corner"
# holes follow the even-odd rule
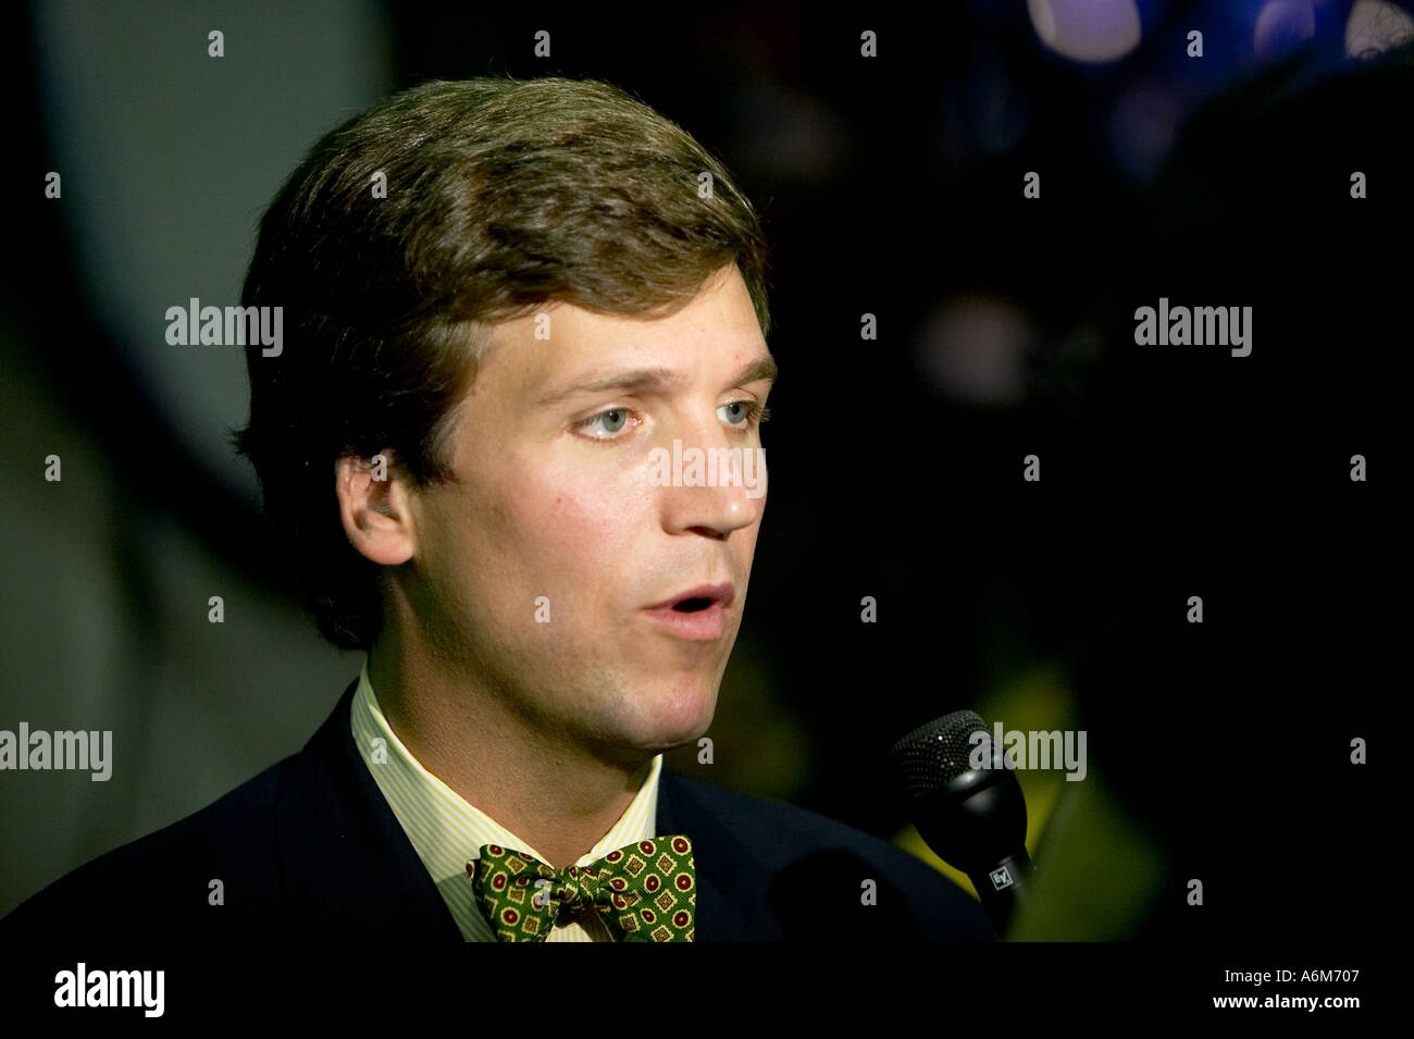
[[[639,841],[564,869],[486,844],[467,874],[502,941],[544,941],[557,919],[585,912],[597,912],[615,941],[693,940],[697,868],[686,837]]]

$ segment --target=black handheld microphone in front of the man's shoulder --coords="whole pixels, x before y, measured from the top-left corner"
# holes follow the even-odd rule
[[[967,874],[1003,934],[1025,905],[1032,868],[1021,783],[987,724],[976,711],[953,711],[919,725],[888,756],[919,835]]]

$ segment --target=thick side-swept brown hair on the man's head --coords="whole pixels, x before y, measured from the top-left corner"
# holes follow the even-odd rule
[[[378,564],[339,522],[335,459],[392,451],[416,486],[445,482],[489,325],[550,301],[673,314],[732,262],[768,335],[751,202],[686,130],[608,83],[430,82],[320,140],[260,222],[242,305],[283,307],[283,344],[246,348],[235,444],[324,636],[366,649],[383,619]]]

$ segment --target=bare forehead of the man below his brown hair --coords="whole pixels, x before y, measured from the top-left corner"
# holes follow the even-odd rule
[[[563,399],[574,386],[629,369],[656,369],[663,382],[727,377],[769,356],[751,295],[735,266],[667,317],[597,314],[546,304],[491,331],[478,382],[525,403]]]

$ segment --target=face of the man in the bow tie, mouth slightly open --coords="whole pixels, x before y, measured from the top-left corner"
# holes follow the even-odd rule
[[[711,722],[765,509],[755,409],[773,365],[734,264],[673,317],[543,314],[547,329],[495,328],[452,430],[460,482],[413,495],[413,605],[478,695],[547,744],[636,761]],[[755,458],[734,479],[718,461],[707,486],[691,448]],[[730,591],[649,609],[704,585]]]

